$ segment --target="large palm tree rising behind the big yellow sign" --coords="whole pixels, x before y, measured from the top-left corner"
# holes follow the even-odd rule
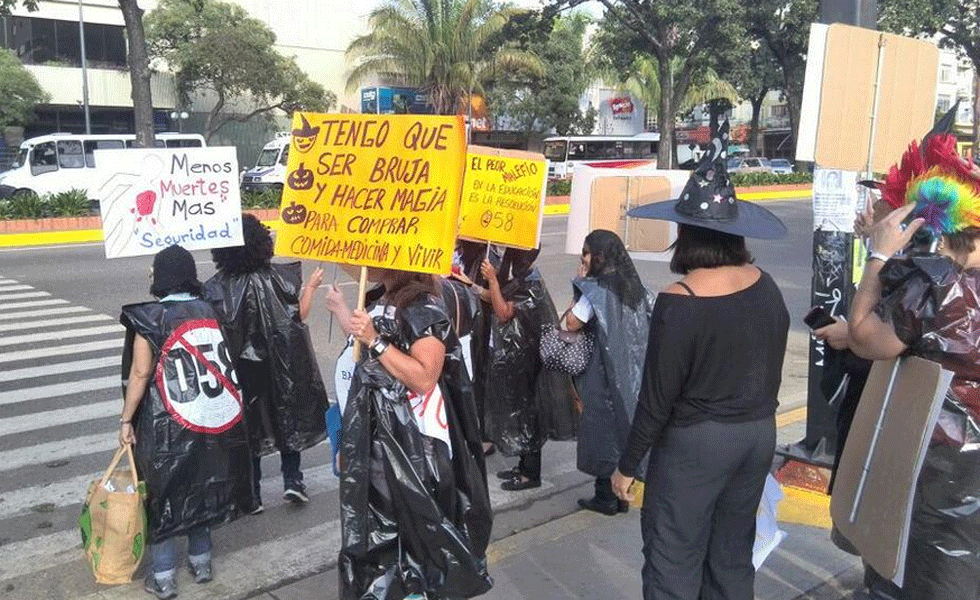
[[[368,17],[371,31],[347,47],[359,59],[347,88],[383,77],[429,94],[437,114],[455,114],[493,73],[540,73],[538,58],[500,35],[516,9],[487,0],[389,0]]]

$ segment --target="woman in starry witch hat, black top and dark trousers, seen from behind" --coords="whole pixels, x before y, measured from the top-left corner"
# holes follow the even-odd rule
[[[621,499],[650,452],[641,513],[643,597],[754,597],[756,513],[772,467],[789,313],[745,237],[785,226],[738,201],[725,167],[728,122],[681,198],[630,216],[678,223],[670,269],[684,278],[657,297],[643,385],[613,474]]]

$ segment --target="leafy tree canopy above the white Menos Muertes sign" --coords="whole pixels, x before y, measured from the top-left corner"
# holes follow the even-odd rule
[[[210,138],[231,121],[276,110],[327,111],[336,96],[314,83],[293,58],[276,52],[276,36],[239,6],[219,0],[163,0],[146,17],[151,54],[177,76],[184,100],[210,92]]]

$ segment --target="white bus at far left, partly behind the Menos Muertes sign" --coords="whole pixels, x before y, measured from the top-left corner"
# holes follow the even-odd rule
[[[39,196],[71,190],[89,191],[109,175],[108,165],[95,164],[96,150],[132,148],[134,134],[52,133],[24,140],[13,165],[0,173],[0,198],[18,193]],[[201,148],[196,133],[158,133],[157,148]],[[98,200],[98,198],[91,198]]]

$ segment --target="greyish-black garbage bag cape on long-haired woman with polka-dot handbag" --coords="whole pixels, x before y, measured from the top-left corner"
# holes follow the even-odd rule
[[[595,350],[585,371],[575,378],[583,406],[578,469],[594,477],[610,477],[626,447],[636,411],[654,295],[647,292],[634,310],[594,278],[579,278],[572,285],[595,310],[595,318],[586,325],[595,333]],[[637,473],[646,473],[645,466],[641,464]]]

